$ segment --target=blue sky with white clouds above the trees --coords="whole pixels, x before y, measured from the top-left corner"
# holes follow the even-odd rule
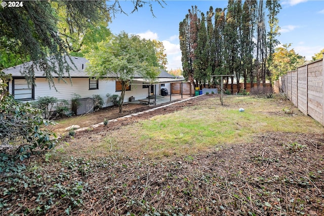
[[[133,9],[131,1],[119,1],[123,10],[130,13]],[[168,58],[167,69],[181,67],[179,46],[179,23],[185,18],[191,6],[197,6],[201,12],[213,8],[226,8],[227,1],[165,1],[161,8],[153,3],[152,16],[149,6],[140,8],[138,12],[116,14],[109,28],[112,33],[125,31],[139,34],[147,39],[163,41]],[[291,0],[280,1],[282,9],[278,15],[281,28],[278,40],[281,44],[292,44],[291,49],[305,56],[306,60],[324,48],[324,1]]]

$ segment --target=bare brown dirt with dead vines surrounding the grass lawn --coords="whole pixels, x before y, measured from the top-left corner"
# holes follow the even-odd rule
[[[195,97],[78,132],[73,142],[91,143],[92,135],[211,97],[215,96]],[[289,101],[278,103],[298,113]],[[129,104],[124,115],[151,108]],[[96,123],[121,117],[118,108],[91,115]],[[322,133],[271,132],[255,134],[249,143],[165,160],[124,153],[94,159],[72,155],[48,163],[36,158],[42,168],[26,171],[21,182],[38,179],[5,196],[10,210],[0,206],[0,215],[35,215],[37,206],[43,212],[39,215],[324,215],[323,152]],[[33,159],[29,163],[34,164]],[[16,187],[14,181],[0,183],[3,188]]]

